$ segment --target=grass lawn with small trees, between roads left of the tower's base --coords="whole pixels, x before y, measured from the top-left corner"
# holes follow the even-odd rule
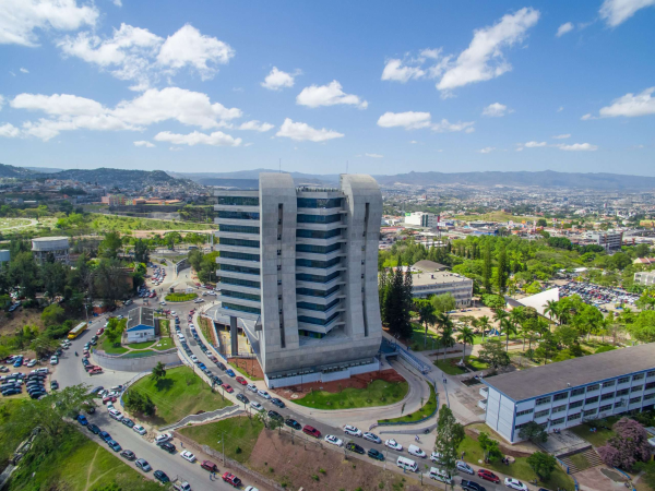
[[[155,424],[168,424],[179,421],[184,416],[199,411],[213,411],[231,406],[223,397],[205,384],[188,367],[166,371],[166,378],[155,382],[150,376],[138,381],[130,390],[147,394],[157,406],[156,416],[151,418]]]

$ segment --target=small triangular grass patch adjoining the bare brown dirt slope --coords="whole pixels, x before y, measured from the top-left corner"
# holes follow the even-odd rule
[[[218,452],[223,452],[223,442],[225,442],[225,455],[242,464],[250,458],[263,428],[264,424],[257,418],[239,416],[213,423],[187,427],[178,431]]]

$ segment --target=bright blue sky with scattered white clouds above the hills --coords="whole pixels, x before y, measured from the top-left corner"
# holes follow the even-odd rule
[[[655,0],[0,0],[0,163],[655,176]]]

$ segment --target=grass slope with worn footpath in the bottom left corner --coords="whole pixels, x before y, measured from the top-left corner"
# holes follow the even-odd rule
[[[12,475],[9,490],[83,491],[105,489],[110,484],[116,484],[116,489],[133,491],[160,489],[157,482],[144,479],[120,460],[118,454],[107,445],[91,441],[80,430],[71,428],[51,452],[34,460],[29,456],[22,460]]]

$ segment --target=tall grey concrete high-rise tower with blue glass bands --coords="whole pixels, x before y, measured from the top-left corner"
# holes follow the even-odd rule
[[[258,190],[216,195],[216,315],[229,316],[230,352],[242,326],[271,387],[377,370],[376,180],[297,188],[288,173],[261,173]]]

